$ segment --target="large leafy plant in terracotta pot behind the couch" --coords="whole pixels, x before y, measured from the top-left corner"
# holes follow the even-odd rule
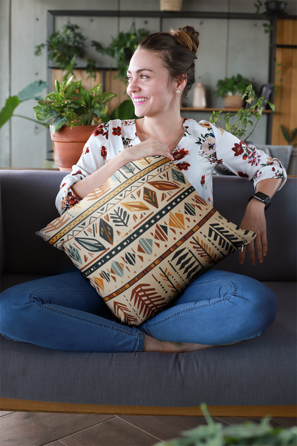
[[[76,164],[85,142],[107,112],[106,102],[116,96],[103,93],[101,84],[86,91],[81,81],[72,79],[73,76],[61,84],[56,80],[56,91],[46,94],[33,107],[40,122],[53,120],[51,139],[55,142],[60,170],[71,170]]]

